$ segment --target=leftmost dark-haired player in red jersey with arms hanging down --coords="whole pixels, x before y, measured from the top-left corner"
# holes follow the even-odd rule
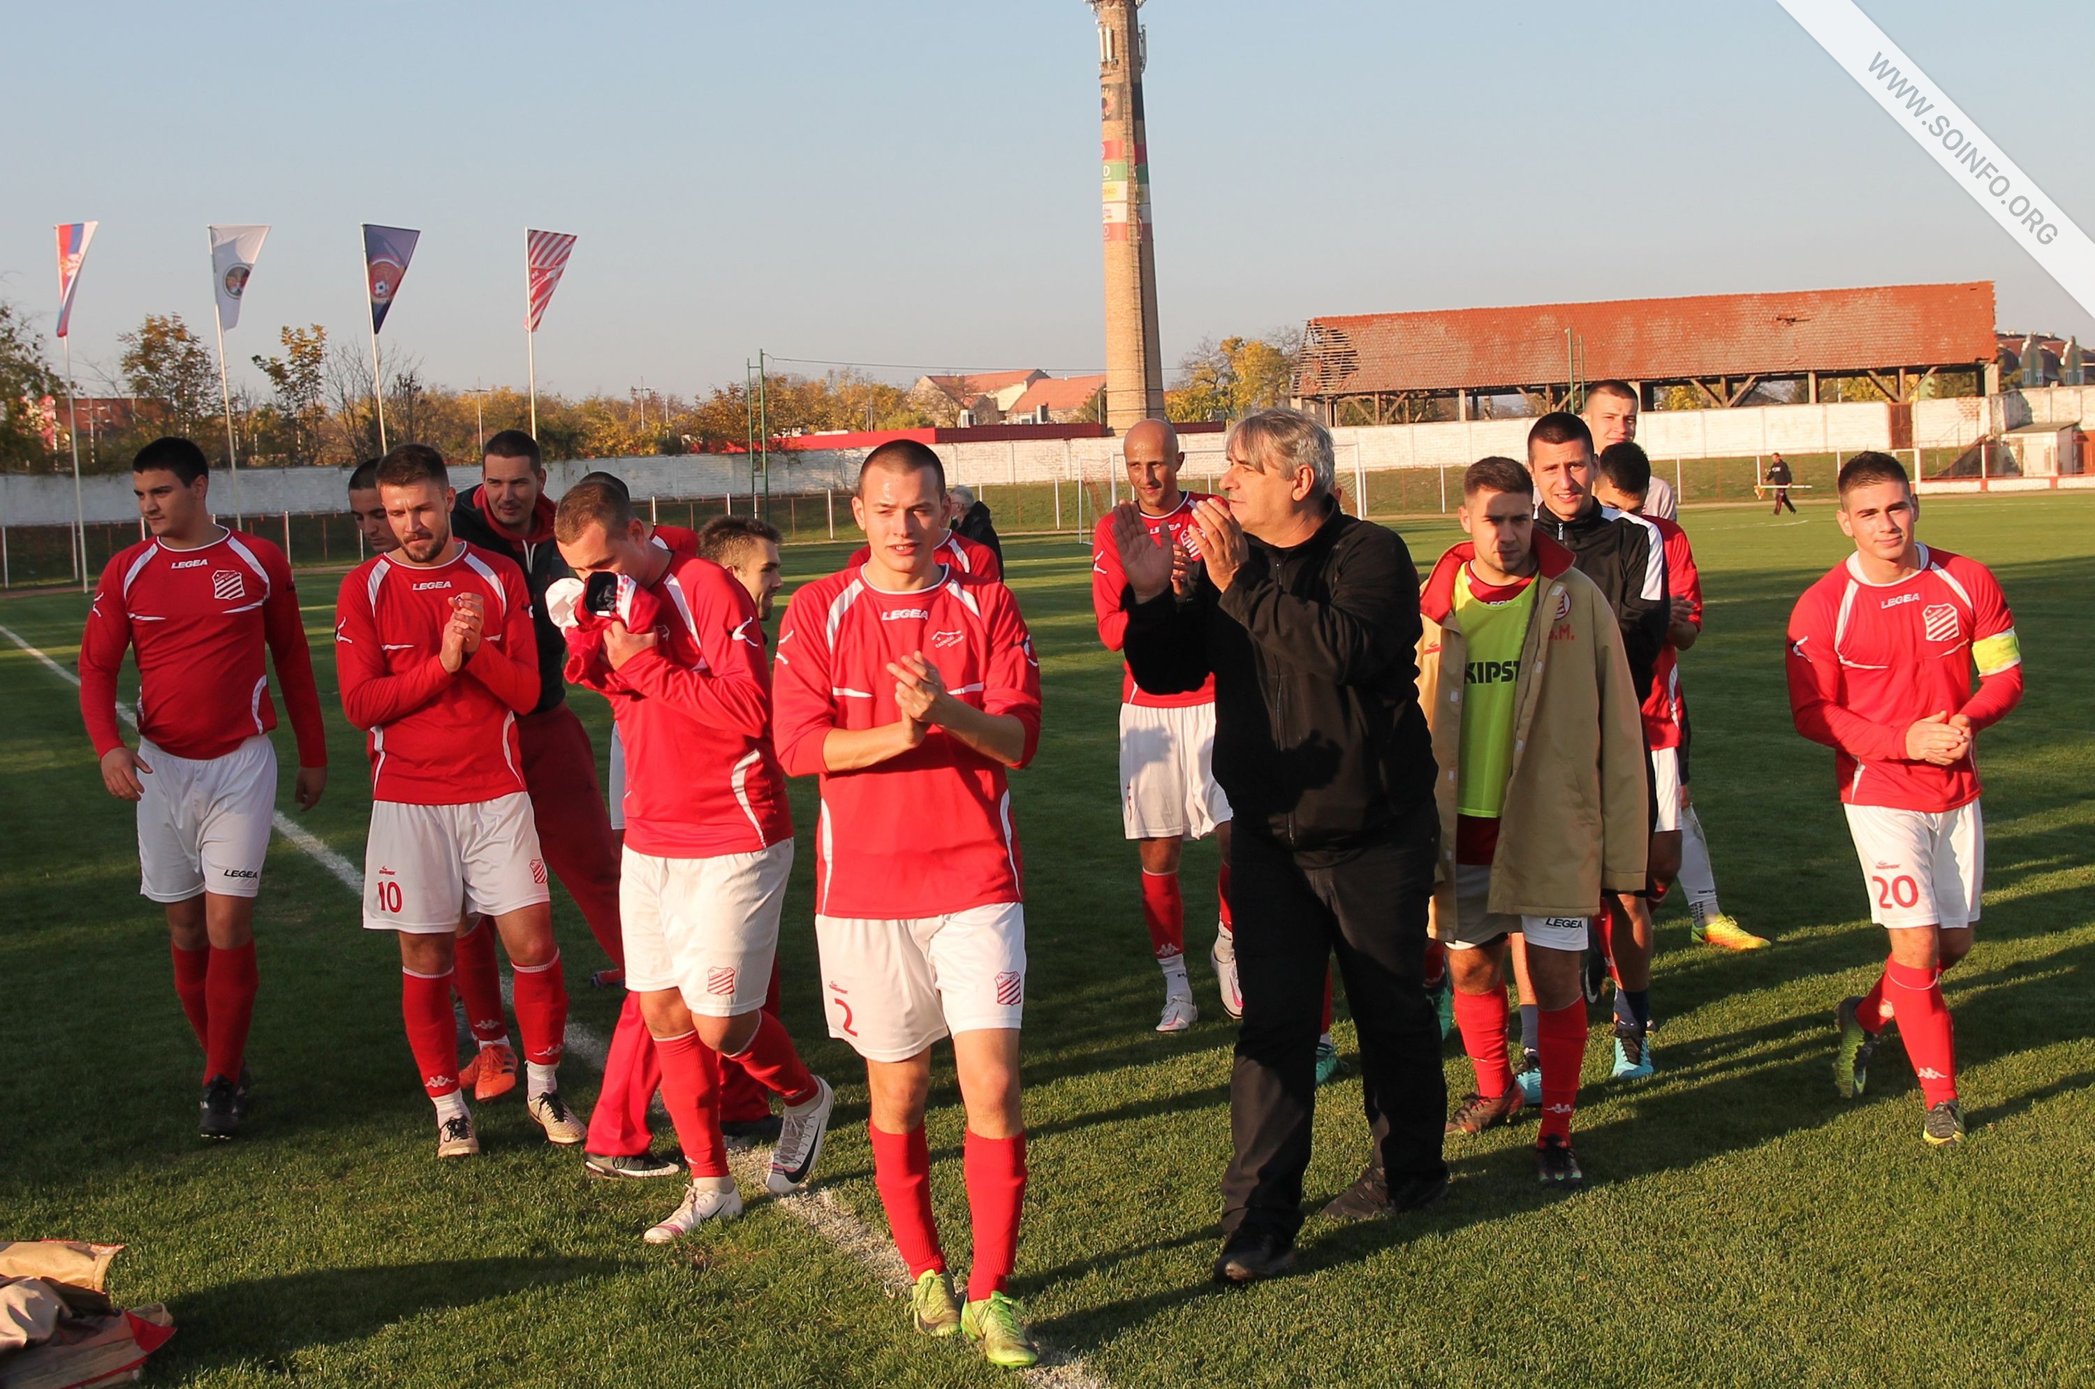
[[[327,731],[283,551],[212,520],[210,465],[186,438],[132,459],[149,541],[103,570],[80,637],[80,716],[103,786],[138,804],[138,890],[168,911],[174,993],[203,1048],[197,1127],[233,1138],[247,1115],[256,1006],[256,892],[277,811],[262,649],[297,735],[300,809],[327,786]],[[117,727],[117,673],[138,654],[138,748]]]

